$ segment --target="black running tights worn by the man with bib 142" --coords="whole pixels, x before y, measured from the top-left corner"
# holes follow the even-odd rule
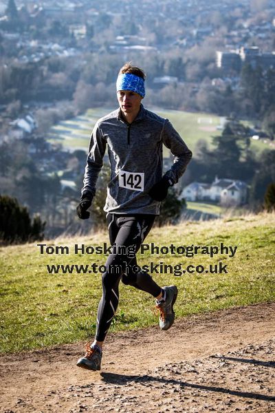
[[[120,279],[124,284],[146,291],[153,297],[157,297],[162,291],[151,275],[136,271],[135,253],[151,230],[154,220],[155,215],[107,215],[113,253],[105,264],[107,271],[102,274],[103,291],[96,320],[97,341],[104,341],[118,308]]]

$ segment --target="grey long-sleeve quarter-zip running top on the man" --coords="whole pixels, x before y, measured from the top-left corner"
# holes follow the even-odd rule
[[[82,193],[95,195],[107,147],[111,177],[104,211],[159,215],[160,202],[153,200],[148,191],[162,178],[163,144],[174,156],[173,166],[166,175],[177,183],[192,152],[168,119],[148,111],[143,105],[131,124],[123,120],[120,109],[100,118],[91,134]]]

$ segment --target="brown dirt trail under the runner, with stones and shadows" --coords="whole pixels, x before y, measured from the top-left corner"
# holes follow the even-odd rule
[[[0,412],[275,412],[275,303],[109,335],[102,370],[83,343],[0,357]]]

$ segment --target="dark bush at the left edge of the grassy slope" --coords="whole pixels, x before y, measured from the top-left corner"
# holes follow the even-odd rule
[[[31,222],[28,209],[22,207],[16,198],[0,195],[0,239],[3,242],[41,241],[45,224],[39,215]]]

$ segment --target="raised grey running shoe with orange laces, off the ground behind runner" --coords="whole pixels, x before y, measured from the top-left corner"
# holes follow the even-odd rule
[[[173,305],[177,299],[177,287],[168,286],[162,287],[162,289],[166,291],[166,299],[161,302],[156,301],[155,308],[159,310],[159,327],[162,330],[168,330],[175,321]]]

